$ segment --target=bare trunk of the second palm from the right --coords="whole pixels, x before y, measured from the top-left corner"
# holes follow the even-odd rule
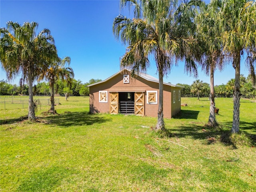
[[[215,102],[214,102],[214,69],[210,66],[210,116],[208,124],[210,126],[216,126],[216,116],[215,116]]]

